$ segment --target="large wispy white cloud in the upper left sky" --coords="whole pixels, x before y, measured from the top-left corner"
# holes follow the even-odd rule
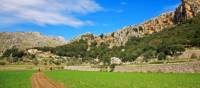
[[[94,0],[0,0],[0,19],[1,23],[31,22],[79,27],[93,23],[82,21],[74,15],[102,9]]]

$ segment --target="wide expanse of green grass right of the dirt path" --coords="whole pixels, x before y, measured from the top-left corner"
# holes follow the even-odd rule
[[[200,74],[45,72],[66,88],[200,88]]]

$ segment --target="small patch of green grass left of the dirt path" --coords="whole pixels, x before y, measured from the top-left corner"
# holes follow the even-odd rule
[[[31,88],[34,71],[0,71],[0,88]]]

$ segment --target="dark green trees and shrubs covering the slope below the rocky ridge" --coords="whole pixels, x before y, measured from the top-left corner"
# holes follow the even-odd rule
[[[125,46],[108,48],[109,44],[96,42],[88,44],[87,40],[74,41],[71,44],[58,47],[38,47],[43,51],[51,51],[59,56],[83,58],[92,61],[96,58],[109,64],[111,57],[119,57],[122,61],[134,61],[143,56],[145,61],[152,58],[159,60],[167,56],[178,56],[185,48],[200,47],[200,15],[184,21],[173,28],[162,32],[132,37]]]

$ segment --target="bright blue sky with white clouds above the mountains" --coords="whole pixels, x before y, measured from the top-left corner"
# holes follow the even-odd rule
[[[0,0],[0,32],[41,32],[70,40],[138,24],[180,0]]]

